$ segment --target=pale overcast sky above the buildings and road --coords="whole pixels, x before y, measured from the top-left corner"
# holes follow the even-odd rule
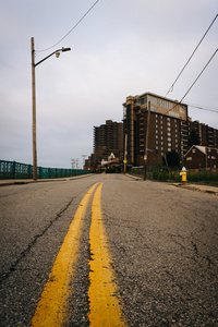
[[[33,164],[31,38],[36,68],[38,166],[70,168],[93,153],[93,128],[122,121],[130,95],[166,96],[218,13],[217,0],[0,0],[0,159]],[[218,19],[178,80],[181,100],[218,48]],[[218,111],[218,53],[183,102]],[[189,106],[218,129],[218,112]]]

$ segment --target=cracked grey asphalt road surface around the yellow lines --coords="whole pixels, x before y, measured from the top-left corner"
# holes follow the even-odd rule
[[[104,257],[110,259],[123,325],[218,326],[217,196],[122,174],[0,187],[0,326],[33,323],[69,227],[96,183],[77,237],[63,325],[104,326],[89,315],[97,256],[93,198],[102,184],[96,199],[102,217],[98,213],[96,221],[106,230]]]

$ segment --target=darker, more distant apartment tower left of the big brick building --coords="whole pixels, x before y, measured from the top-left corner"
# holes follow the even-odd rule
[[[122,158],[123,123],[107,120],[100,126],[94,126],[94,153],[86,160],[86,167],[100,166],[113,153],[116,158]]]

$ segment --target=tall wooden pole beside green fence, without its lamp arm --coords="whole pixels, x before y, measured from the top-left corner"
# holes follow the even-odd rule
[[[36,148],[36,77],[35,77],[35,49],[32,37],[32,93],[33,93],[33,179],[37,181],[37,148]]]

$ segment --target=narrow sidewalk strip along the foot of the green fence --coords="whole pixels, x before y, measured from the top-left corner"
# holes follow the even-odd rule
[[[40,183],[40,182],[61,182],[61,181],[71,181],[76,179],[82,179],[92,175],[93,173],[88,174],[81,174],[81,175],[72,175],[69,178],[58,178],[58,179],[38,179],[37,181],[34,180],[0,180],[0,186],[9,186],[9,185],[21,185],[21,184],[31,184],[31,183]]]

